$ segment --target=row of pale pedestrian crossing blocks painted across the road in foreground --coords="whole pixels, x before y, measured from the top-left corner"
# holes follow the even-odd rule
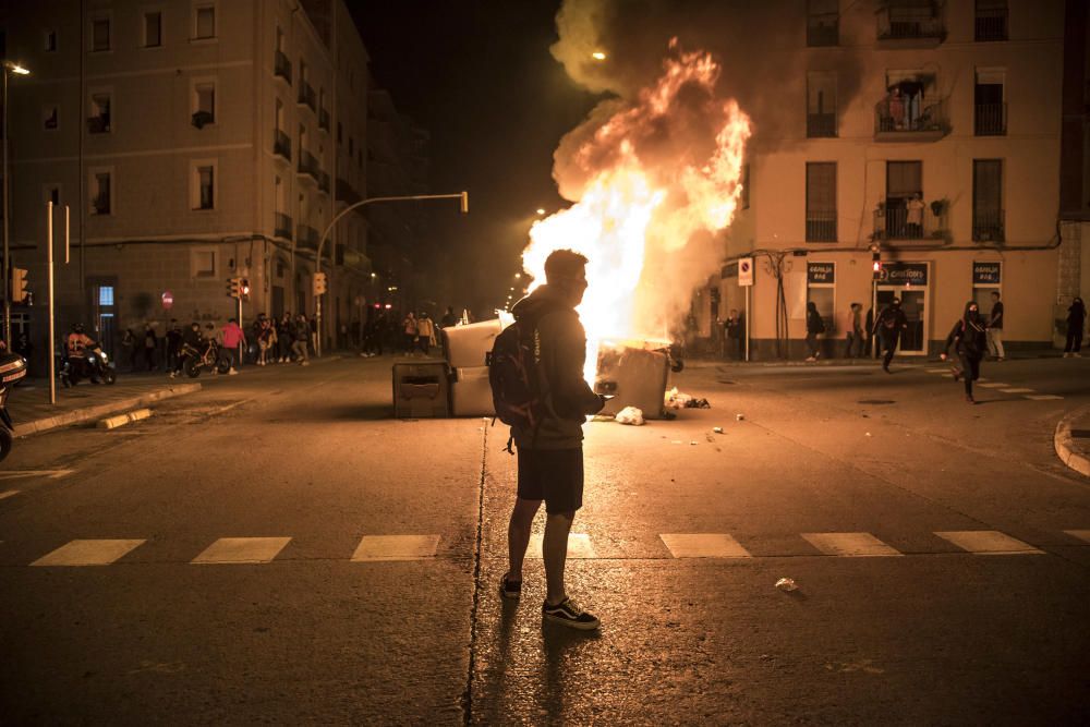
[[[665,548],[661,555],[647,549],[646,543],[625,541],[632,544],[628,556],[618,554],[616,542],[609,541],[605,548],[596,548],[588,533],[571,533],[568,538],[568,558],[573,559],[736,559],[747,560],[767,557],[825,556],[834,558],[881,558],[921,555],[972,554],[979,556],[1045,555],[1047,552],[997,530],[935,531],[927,533],[931,542],[925,547],[905,552],[867,532],[798,533],[797,542],[783,542],[775,553],[767,552],[767,545],[747,546],[730,533],[662,533],[657,544]],[[213,541],[191,560],[181,562],[192,566],[267,566],[282,559],[281,555],[294,538],[274,537],[220,537]],[[779,540],[779,538],[777,538]],[[410,535],[364,535],[347,560],[358,564],[429,560],[438,558],[443,538],[436,534]],[[500,547],[506,552],[506,540],[500,538]],[[81,538],[31,561],[35,568],[75,568],[111,566],[144,547],[144,538]],[[0,541],[0,546],[11,542]],[[1058,544],[1066,546],[1090,545],[1090,530],[1059,531]],[[754,549],[760,552],[754,553]],[[0,548],[0,557],[2,557]],[[607,555],[600,555],[605,552]],[[650,554],[650,555],[649,555]],[[526,558],[542,557],[542,535],[531,536]],[[336,559],[336,558],[335,558]],[[130,562],[138,562],[138,558]],[[161,562],[158,561],[157,562]],[[16,564],[17,565],[17,564]]]

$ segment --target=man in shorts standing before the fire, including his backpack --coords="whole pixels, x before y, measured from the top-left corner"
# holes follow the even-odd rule
[[[570,250],[548,256],[545,284],[514,304],[514,324],[496,337],[489,379],[496,414],[511,425],[519,456],[518,496],[507,531],[510,564],[500,593],[505,598],[522,594],[522,562],[544,501],[542,618],[592,630],[600,620],[564,587],[568,533],[583,505],[583,422],[605,405],[583,379],[586,334],[574,308],[586,290],[586,263]]]

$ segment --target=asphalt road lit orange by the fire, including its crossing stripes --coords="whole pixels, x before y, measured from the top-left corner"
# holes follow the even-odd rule
[[[19,441],[0,723],[1090,716],[1090,486],[1052,450],[1090,362],[985,364],[1006,386],[978,405],[940,366],[690,366],[712,409],[585,427],[589,635],[543,627],[540,559],[499,598],[506,429],[390,419],[390,363],[249,368]]]

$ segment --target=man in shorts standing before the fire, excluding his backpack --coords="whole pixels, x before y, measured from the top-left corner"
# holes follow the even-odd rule
[[[535,328],[540,346],[538,374],[545,414],[533,431],[511,427],[518,447],[518,495],[508,525],[509,567],[500,579],[505,598],[522,593],[522,564],[534,517],[545,502],[546,596],[542,618],[576,629],[591,630],[600,620],[572,601],[564,584],[568,533],[583,504],[583,421],[602,410],[605,400],[583,379],[586,334],[576,306],[586,290],[588,259],[558,250],[545,260],[545,284],[516,303],[519,325]]]

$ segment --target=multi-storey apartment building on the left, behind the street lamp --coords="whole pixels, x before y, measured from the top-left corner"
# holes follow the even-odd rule
[[[343,0],[5,3],[19,311],[46,344],[45,202],[71,208],[58,322],[124,328],[314,311],[323,232],[367,190],[368,58]],[[327,340],[378,294],[367,222],[322,250]]]

